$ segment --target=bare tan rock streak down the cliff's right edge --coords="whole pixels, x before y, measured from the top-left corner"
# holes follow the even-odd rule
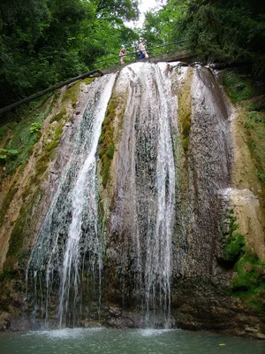
[[[265,261],[265,211],[258,197],[261,193],[261,183],[246,143],[245,109],[235,107],[232,117],[234,138],[232,186],[237,189],[237,193],[231,196],[231,207],[235,208],[239,233],[246,236],[246,243],[250,249]]]

